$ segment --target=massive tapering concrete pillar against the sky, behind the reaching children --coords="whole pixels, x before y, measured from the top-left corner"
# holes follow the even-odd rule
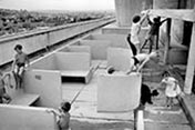
[[[148,9],[152,0],[115,0],[116,21],[119,27],[130,27],[134,14]]]

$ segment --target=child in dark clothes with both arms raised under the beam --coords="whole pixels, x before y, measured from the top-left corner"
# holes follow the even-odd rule
[[[145,42],[143,43],[143,46],[141,47],[141,51],[144,48],[144,46],[150,41],[150,51],[152,52],[152,46],[155,42],[156,43],[156,50],[158,49],[158,31],[160,31],[160,27],[162,26],[163,22],[165,22],[167,19],[161,21],[161,17],[156,17],[153,19],[154,22],[152,22],[150,20],[150,18],[147,17],[147,21],[148,24],[151,26],[151,29],[145,38]]]

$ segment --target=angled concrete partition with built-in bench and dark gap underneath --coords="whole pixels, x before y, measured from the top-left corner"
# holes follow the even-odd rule
[[[55,52],[33,62],[31,68],[60,71],[62,77],[84,78],[85,83],[90,81],[93,69],[89,52]]]

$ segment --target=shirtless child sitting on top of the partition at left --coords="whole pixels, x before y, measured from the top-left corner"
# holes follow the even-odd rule
[[[17,44],[14,47],[14,50],[17,51],[17,54],[14,56],[13,64],[12,64],[12,72],[16,78],[17,87],[22,88],[22,79],[23,79],[23,71],[29,66],[29,58],[28,56],[22,51],[22,46]]]

